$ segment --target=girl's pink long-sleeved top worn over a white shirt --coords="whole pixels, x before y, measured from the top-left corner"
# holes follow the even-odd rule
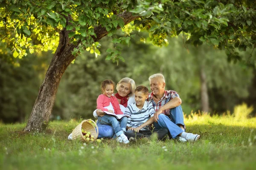
[[[116,99],[116,97],[114,97],[113,95],[111,95],[111,97],[109,98],[106,95],[99,95],[99,97],[97,98],[97,109],[101,109],[102,111],[108,111],[108,109],[104,108],[109,106],[109,103],[111,102],[115,114],[116,115],[123,115],[123,112],[120,109],[119,103]]]

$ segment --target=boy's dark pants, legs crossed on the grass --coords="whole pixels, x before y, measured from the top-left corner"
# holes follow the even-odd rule
[[[151,130],[140,130],[139,132],[135,132],[134,130],[127,130],[125,135],[128,138],[149,138],[152,134],[156,133],[158,139],[164,139],[166,136],[169,138],[169,130],[166,128],[156,129],[154,128]]]

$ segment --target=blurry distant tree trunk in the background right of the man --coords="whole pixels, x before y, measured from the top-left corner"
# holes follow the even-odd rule
[[[201,66],[200,70],[200,79],[201,79],[201,104],[202,104],[202,111],[209,112],[209,97],[208,97],[208,90],[207,90],[207,81],[206,75],[204,72],[204,66]]]

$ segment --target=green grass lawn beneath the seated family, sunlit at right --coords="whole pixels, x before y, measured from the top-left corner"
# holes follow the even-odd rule
[[[45,133],[22,133],[26,124],[0,124],[0,169],[253,170],[256,167],[256,118],[192,114],[187,131],[197,142],[140,139],[128,145],[68,141],[79,122],[53,121]]]

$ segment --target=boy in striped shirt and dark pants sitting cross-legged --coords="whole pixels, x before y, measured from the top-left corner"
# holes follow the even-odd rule
[[[149,137],[153,133],[157,133],[159,139],[163,139],[169,134],[167,128],[149,130],[148,125],[154,122],[155,110],[152,104],[145,101],[148,98],[148,88],[145,86],[138,86],[135,89],[135,103],[130,104],[125,111],[125,114],[130,115],[128,118],[127,131],[125,135],[128,138]]]

